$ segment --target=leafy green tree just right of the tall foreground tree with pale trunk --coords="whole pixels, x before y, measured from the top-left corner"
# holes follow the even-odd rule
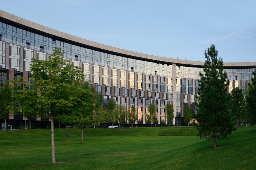
[[[81,84],[78,91],[78,101],[74,108],[74,114],[76,115],[76,125],[81,128],[81,143],[83,143],[83,129],[94,125],[99,125],[98,115],[95,110],[102,104],[101,96],[97,93],[95,88],[91,86],[90,80],[85,80]]]

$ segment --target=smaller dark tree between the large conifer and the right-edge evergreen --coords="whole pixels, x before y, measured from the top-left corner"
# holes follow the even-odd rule
[[[232,108],[231,111],[236,117],[236,128],[239,128],[242,114],[245,112],[245,96],[242,89],[239,87],[234,88],[231,91],[232,95]],[[238,126],[237,126],[238,125]]]

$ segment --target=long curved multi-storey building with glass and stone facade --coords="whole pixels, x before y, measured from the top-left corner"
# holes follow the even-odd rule
[[[199,72],[204,62],[146,55],[75,37],[0,11],[0,86],[14,76],[30,79],[31,58],[48,60],[54,47],[62,48],[64,58],[80,66],[93,86],[102,93],[104,103],[114,98],[118,104],[135,105],[137,124],[147,124],[148,104],[157,107],[154,124],[167,124],[165,104],[171,101],[175,118],[182,125],[187,104],[195,109]],[[256,62],[226,62],[230,80],[228,91],[245,89]],[[9,119],[25,120],[23,115]],[[35,121],[37,120],[37,121]],[[38,122],[48,121],[37,118]],[[36,125],[38,126],[38,125]],[[147,126],[147,125],[146,125]]]

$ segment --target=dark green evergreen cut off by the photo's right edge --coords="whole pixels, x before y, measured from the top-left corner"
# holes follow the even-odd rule
[[[249,119],[253,126],[253,124],[256,122],[256,71],[253,71],[252,74],[254,75],[254,77],[252,77],[251,82],[248,83],[249,93],[246,96],[246,100],[248,111],[250,113]]]

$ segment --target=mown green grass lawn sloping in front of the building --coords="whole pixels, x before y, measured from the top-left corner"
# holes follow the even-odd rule
[[[215,150],[195,135],[161,135],[170,128],[90,128],[83,144],[81,130],[69,129],[66,139],[65,129],[55,129],[55,165],[49,129],[0,131],[0,169],[256,169],[256,127],[217,140]]]

